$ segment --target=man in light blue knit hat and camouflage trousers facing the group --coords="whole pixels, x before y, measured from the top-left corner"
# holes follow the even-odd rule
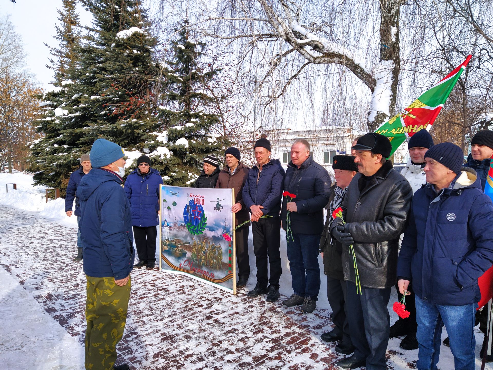
[[[127,321],[134,237],[130,205],[122,188],[122,148],[105,139],[90,152],[93,169],[77,188],[86,288],[85,368],[127,370],[114,365],[116,344]]]

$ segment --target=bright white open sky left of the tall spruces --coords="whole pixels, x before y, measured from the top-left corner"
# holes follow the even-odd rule
[[[35,75],[39,86],[43,89],[51,87],[53,71],[46,68],[50,53],[44,45],[56,46],[55,24],[58,23],[57,9],[62,7],[62,0],[0,0],[0,17],[10,15],[10,22],[15,31],[22,37],[25,51],[28,54],[26,69]],[[81,24],[91,21],[89,13],[79,10]]]

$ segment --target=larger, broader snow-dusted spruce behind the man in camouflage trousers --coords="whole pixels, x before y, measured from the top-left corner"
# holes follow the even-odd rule
[[[40,171],[36,183],[63,190],[80,155],[98,138],[128,150],[151,151],[157,145],[152,89],[159,68],[152,61],[156,39],[149,34],[146,9],[138,0],[82,4],[92,13],[93,26],[76,46],[76,68],[61,81],[70,98],[56,102],[55,119],[48,120],[53,134],[33,146],[37,166],[32,170]]]

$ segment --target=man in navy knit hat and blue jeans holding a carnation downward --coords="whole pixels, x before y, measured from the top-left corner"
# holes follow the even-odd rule
[[[462,167],[457,145],[437,144],[424,160],[428,185],[413,197],[397,284],[415,295],[418,369],[437,368],[445,325],[455,369],[474,370],[478,277],[493,263],[493,204],[476,171]]]

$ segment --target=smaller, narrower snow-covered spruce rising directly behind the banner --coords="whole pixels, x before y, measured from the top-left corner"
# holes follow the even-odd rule
[[[172,41],[173,57],[163,64],[163,105],[158,113],[166,129],[158,140],[166,143],[171,158],[165,159],[162,150],[150,156],[156,156],[155,168],[161,173],[171,170],[165,183],[188,186],[200,174],[203,158],[208,154],[220,157],[219,151],[227,143],[218,141],[219,135],[211,134],[219,116],[211,113],[215,102],[208,94],[207,85],[220,70],[201,63],[206,44],[190,38],[187,20],[176,32],[177,39]]]

